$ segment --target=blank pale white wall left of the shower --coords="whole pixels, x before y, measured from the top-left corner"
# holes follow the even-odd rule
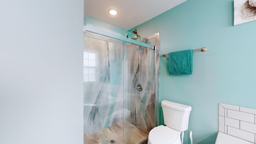
[[[0,2],[0,144],[83,144],[83,6]]]

